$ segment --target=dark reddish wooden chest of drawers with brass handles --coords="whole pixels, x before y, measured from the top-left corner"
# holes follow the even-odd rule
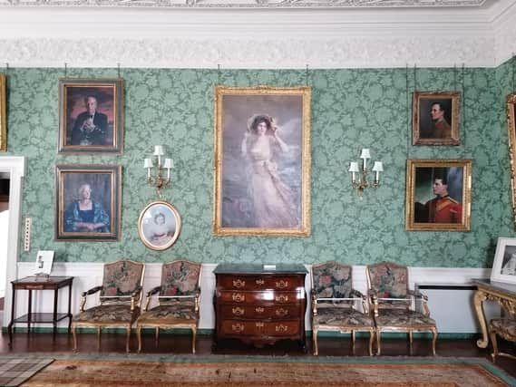
[[[305,266],[221,264],[214,273],[215,346],[227,338],[257,346],[289,339],[305,348]]]

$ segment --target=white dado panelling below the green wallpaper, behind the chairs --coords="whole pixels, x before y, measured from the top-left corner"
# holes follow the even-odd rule
[[[213,309],[213,292],[215,289],[215,276],[213,270],[216,264],[202,264],[201,272],[201,297],[200,297],[200,329],[213,329],[215,326],[215,317]],[[76,314],[79,310],[81,294],[95,285],[102,284],[102,263],[56,263],[53,268],[53,276],[73,276],[73,295],[72,295],[72,313]],[[307,266],[310,269],[310,266]],[[468,284],[472,278],[482,278],[490,276],[490,269],[478,268],[450,268],[450,267],[410,267],[409,278],[411,280],[411,288],[414,284]],[[18,277],[32,276],[34,273],[33,263],[18,263]],[[355,288],[365,293],[367,283],[365,279],[365,266],[354,266],[353,277]],[[143,281],[144,294],[151,290],[152,287],[160,285],[161,281],[161,264],[146,264],[145,276]],[[310,278],[307,276],[307,297],[310,294],[311,284]],[[66,311],[68,303],[68,292],[60,291],[59,310]],[[89,296],[87,305],[95,305],[98,295]],[[53,291],[36,291],[33,292],[33,311],[52,312],[54,305]],[[144,301],[144,300],[143,300]],[[310,302],[307,298],[307,330],[310,330]],[[26,313],[27,295],[26,291],[16,291],[16,315]],[[10,311],[5,310],[4,326],[9,323]],[[66,326],[67,320],[63,320],[59,326]],[[460,324],[460,321],[457,322]],[[470,324],[470,322],[467,322]],[[17,324],[16,326],[23,326]],[[38,324],[35,324],[38,326]],[[41,326],[51,327],[52,324],[43,324]],[[469,326],[469,325],[468,325]],[[462,332],[460,327],[457,332]]]

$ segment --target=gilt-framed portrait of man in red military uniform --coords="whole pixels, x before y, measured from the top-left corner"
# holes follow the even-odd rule
[[[469,231],[471,202],[472,160],[407,160],[407,231]]]

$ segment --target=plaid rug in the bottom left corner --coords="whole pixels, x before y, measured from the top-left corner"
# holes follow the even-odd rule
[[[0,357],[0,386],[17,386],[40,371],[54,359]]]

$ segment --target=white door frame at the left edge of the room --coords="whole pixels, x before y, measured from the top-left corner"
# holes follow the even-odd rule
[[[18,245],[20,242],[20,219],[22,208],[22,178],[25,174],[23,156],[0,156],[0,172],[9,172],[9,235],[7,237],[7,266],[5,268],[4,321],[7,326],[11,321],[11,281],[17,277]]]

